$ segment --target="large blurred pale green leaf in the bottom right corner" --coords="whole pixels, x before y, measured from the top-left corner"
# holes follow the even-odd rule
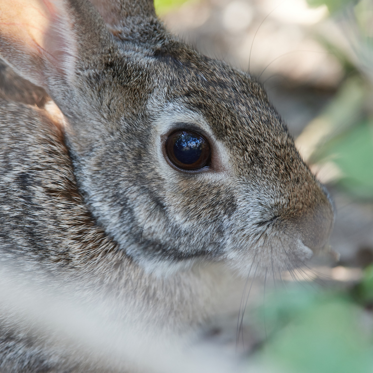
[[[284,372],[372,372],[372,346],[359,325],[359,311],[339,300],[313,304],[269,343],[265,360]]]

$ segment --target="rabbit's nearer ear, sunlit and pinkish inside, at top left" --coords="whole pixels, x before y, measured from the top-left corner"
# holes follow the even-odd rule
[[[73,81],[82,51],[93,60],[105,33],[88,1],[0,0],[0,57],[44,88]]]

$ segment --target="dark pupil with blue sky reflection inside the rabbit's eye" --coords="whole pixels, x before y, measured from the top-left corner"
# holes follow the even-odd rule
[[[192,164],[200,159],[204,145],[203,137],[181,132],[173,145],[173,154],[181,163]]]

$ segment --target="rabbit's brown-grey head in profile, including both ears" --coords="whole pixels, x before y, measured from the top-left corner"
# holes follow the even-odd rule
[[[161,273],[277,271],[323,248],[332,203],[261,85],[170,35],[146,0],[91,3],[0,0],[0,53],[65,115],[97,224]]]

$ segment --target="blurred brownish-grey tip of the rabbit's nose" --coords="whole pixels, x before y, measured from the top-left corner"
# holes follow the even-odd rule
[[[327,198],[301,217],[297,224],[303,244],[313,251],[325,247],[334,223],[334,206],[329,194],[324,193]]]

